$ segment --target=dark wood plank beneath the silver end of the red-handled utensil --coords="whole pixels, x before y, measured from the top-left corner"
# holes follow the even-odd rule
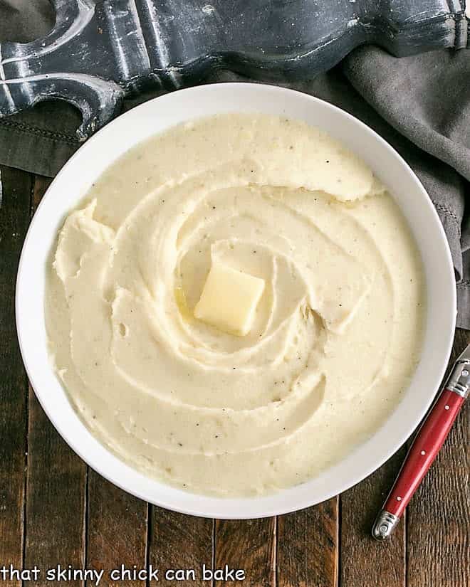
[[[406,448],[402,448],[370,477],[341,495],[341,587],[405,585],[404,519],[386,544],[376,542],[370,534],[405,454]]]

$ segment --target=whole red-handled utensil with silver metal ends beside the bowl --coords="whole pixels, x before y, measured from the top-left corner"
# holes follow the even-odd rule
[[[439,453],[452,424],[469,393],[470,345],[455,361],[449,379],[419,428],[384,507],[372,526],[376,540],[386,540],[394,531],[404,508]]]

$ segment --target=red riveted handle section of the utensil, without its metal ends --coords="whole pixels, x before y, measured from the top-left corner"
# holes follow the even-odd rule
[[[441,393],[419,429],[395,485],[387,497],[383,507],[387,512],[401,517],[404,508],[407,507],[409,500],[444,444],[464,401],[462,396],[454,391],[449,391],[449,389],[444,389]]]

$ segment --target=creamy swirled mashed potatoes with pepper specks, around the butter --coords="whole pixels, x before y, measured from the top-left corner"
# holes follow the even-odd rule
[[[264,281],[244,337],[194,318],[213,263]],[[91,187],[58,236],[46,322],[101,442],[234,496],[304,482],[377,430],[419,359],[423,306],[417,247],[363,162],[303,122],[219,115]]]

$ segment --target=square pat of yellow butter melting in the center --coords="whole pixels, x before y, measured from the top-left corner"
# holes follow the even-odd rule
[[[230,334],[249,333],[264,280],[219,262],[212,263],[194,316]]]

